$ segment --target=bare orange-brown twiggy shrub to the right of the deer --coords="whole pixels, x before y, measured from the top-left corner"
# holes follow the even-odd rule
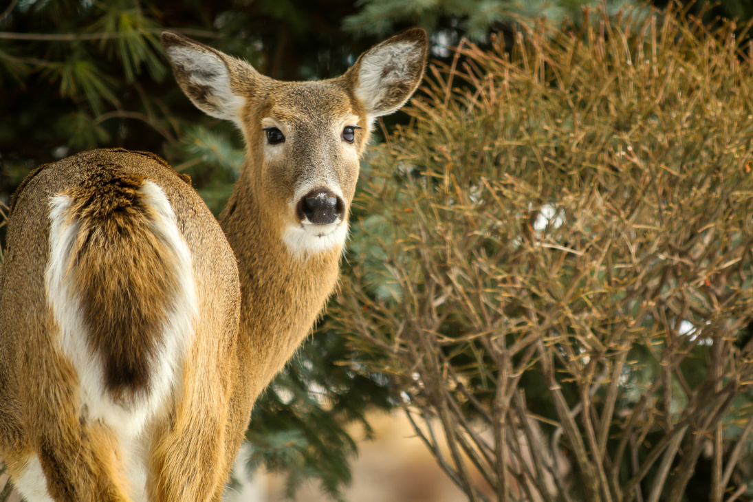
[[[431,68],[328,326],[470,500],[750,500],[751,51],[584,26]]]

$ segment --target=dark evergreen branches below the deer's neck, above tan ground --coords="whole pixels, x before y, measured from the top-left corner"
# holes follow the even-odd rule
[[[322,489],[339,498],[340,485],[350,481],[349,457],[358,451],[344,425],[360,423],[371,437],[367,410],[394,406],[388,379],[339,364],[349,352],[345,337],[320,330],[267,389],[263,406],[254,410],[246,434],[252,444],[249,467],[263,462],[288,473],[290,497],[310,477],[320,479]]]

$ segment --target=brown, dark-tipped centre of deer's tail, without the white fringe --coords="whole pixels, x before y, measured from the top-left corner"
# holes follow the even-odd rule
[[[158,217],[139,192],[146,179],[99,167],[62,194],[74,201],[67,218],[81,226],[69,265],[81,317],[104,361],[105,387],[119,402],[148,388],[178,280],[170,266],[175,257],[149,229]]]

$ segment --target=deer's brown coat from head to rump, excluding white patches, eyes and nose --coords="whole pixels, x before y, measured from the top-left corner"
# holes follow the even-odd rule
[[[126,445],[118,443],[118,431],[87,418],[79,376],[60,348],[47,303],[49,197],[73,201],[66,218],[79,227],[69,272],[87,343],[105,367],[105,388],[129,406],[151,386],[160,327],[179,288],[169,272],[176,258],[149,230],[157,216],[139,192],[151,181],[164,190],[189,248],[198,315],[181,381],[145,431],[146,489],[149,500],[160,502],[221,500],[253,403],[309,333],[337,283],[341,242],[305,255],[283,242],[285,228],[302,225],[291,200],[299,185],[334,180],[346,221],[368,117],[399,108],[422,76],[425,33],[411,30],[377,49],[396,41],[413,47],[407,70],[367,109],[357,98],[364,56],[340,78],[283,83],[202,44],[163,35],[168,52],[181,47],[220,61],[232,94],[245,99],[229,113],[223,95],[201,81],[222,67],[172,61],[184,92],[207,113],[239,123],[248,145],[221,230],[190,180],[151,154],[84,152],[29,175],[14,196],[0,269],[0,453],[11,477],[39,458],[55,500],[129,500]],[[381,78],[394,69],[386,64]],[[347,145],[337,128],[352,116],[361,129]],[[285,128],[282,154],[265,154],[265,117]]]

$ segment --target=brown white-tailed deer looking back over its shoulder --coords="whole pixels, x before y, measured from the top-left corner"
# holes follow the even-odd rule
[[[191,102],[242,132],[218,220],[157,155],[85,151],[11,199],[0,455],[29,502],[221,500],[252,406],[336,287],[359,160],[422,81],[410,29],[283,82],[171,32]]]

